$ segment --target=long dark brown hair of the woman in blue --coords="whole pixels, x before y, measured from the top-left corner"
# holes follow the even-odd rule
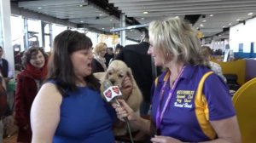
[[[91,49],[91,46],[90,38],[78,31],[62,31],[55,37],[53,53],[49,59],[49,79],[56,80],[57,89],[63,96],[66,95],[67,89],[71,91],[77,89],[70,54],[80,49]],[[84,81],[90,89],[100,91],[99,80],[93,74],[84,77]]]

